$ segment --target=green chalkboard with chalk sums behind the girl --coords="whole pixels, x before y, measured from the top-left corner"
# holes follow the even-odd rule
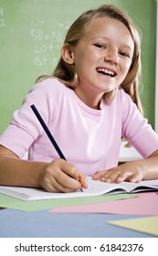
[[[0,0],[0,133],[41,74],[55,68],[66,31],[86,9],[123,7],[142,30],[142,104],[154,128],[154,0]]]

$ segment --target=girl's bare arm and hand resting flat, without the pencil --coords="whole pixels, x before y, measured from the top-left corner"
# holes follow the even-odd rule
[[[106,171],[99,171],[93,179],[103,182],[122,181],[140,182],[146,179],[158,179],[158,150],[146,159],[127,162]]]

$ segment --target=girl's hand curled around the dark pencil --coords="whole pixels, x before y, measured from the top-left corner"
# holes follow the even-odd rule
[[[48,164],[40,177],[41,186],[48,192],[73,192],[87,188],[87,176],[75,165],[58,158]]]

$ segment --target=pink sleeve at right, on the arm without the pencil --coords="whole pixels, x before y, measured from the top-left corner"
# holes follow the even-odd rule
[[[122,136],[146,158],[158,149],[158,134],[151,124],[142,117],[131,97],[121,91],[122,101]]]

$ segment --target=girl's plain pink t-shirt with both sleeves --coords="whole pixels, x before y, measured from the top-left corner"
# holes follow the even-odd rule
[[[137,110],[131,97],[119,90],[111,103],[94,110],[72,89],[56,79],[35,85],[0,137],[0,144],[22,157],[51,162],[58,153],[30,105],[35,104],[66,159],[88,176],[118,165],[121,136],[146,158],[158,149],[158,135]]]

